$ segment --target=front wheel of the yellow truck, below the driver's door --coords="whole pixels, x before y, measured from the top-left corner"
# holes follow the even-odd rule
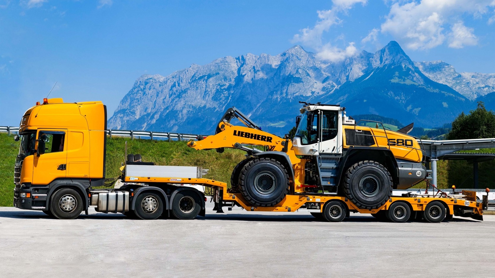
[[[83,199],[72,188],[61,188],[50,197],[50,212],[58,219],[75,219],[83,211]]]

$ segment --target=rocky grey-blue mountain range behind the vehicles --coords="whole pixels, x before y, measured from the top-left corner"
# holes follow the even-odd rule
[[[211,134],[236,106],[283,135],[301,101],[340,104],[347,115],[379,114],[422,127],[451,122],[478,99],[495,105],[495,74],[457,73],[442,61],[413,62],[395,42],[338,63],[294,46],[278,55],[223,57],[169,76],[143,75],[108,120],[112,129]],[[494,103],[494,104],[491,104]]]

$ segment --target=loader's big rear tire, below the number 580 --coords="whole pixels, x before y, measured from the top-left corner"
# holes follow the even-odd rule
[[[392,176],[382,164],[365,160],[349,167],[344,177],[344,193],[357,207],[376,209],[392,196]]]

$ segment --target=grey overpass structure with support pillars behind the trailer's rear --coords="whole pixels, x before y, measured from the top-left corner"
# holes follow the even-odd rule
[[[467,160],[473,163],[474,188],[478,188],[478,162],[495,159],[495,153],[455,153],[460,150],[495,148],[495,138],[463,140],[417,139],[426,157],[427,168],[432,170],[432,184],[437,185],[437,161]]]

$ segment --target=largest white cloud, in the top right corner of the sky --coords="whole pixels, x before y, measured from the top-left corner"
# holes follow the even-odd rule
[[[394,1],[381,31],[409,49],[430,49],[446,41],[449,47],[473,46],[478,42],[474,29],[459,25],[459,17],[469,14],[480,18],[493,6],[495,0]],[[451,32],[445,33],[449,27]]]

